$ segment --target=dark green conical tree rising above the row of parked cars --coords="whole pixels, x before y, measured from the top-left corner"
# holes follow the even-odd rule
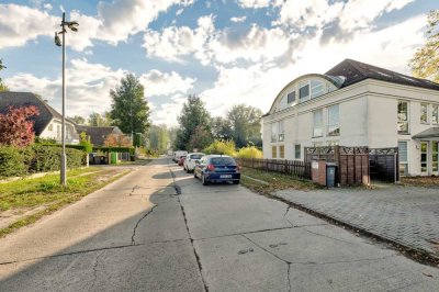
[[[211,115],[205,109],[204,102],[195,96],[189,96],[184,103],[181,115],[178,117],[179,130],[175,142],[175,148],[191,151],[192,147],[203,148],[205,145],[190,145],[191,137],[194,135],[198,126],[205,127],[211,133]]]

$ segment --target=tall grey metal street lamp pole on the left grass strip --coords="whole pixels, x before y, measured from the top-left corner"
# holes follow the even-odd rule
[[[61,126],[61,171],[60,183],[67,186],[67,158],[66,158],[66,26],[77,32],[79,23],[77,21],[66,21],[66,12],[63,12],[61,31],[55,32],[55,45],[63,46],[63,126]],[[63,42],[59,35],[63,35]]]

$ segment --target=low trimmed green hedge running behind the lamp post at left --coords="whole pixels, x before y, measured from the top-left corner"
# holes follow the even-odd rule
[[[66,147],[67,167],[86,165],[87,153]],[[0,178],[25,176],[60,169],[60,147],[30,145],[24,148],[0,147]]]

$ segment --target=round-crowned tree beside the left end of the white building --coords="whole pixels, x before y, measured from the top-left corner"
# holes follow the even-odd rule
[[[261,143],[260,120],[262,111],[258,108],[245,104],[234,105],[227,113],[228,125],[233,131],[233,139],[237,147],[245,147],[250,141]]]

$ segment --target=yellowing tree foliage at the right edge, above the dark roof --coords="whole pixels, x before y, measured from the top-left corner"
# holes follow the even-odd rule
[[[439,82],[439,10],[430,11],[427,22],[427,42],[417,49],[408,66],[413,76]]]

